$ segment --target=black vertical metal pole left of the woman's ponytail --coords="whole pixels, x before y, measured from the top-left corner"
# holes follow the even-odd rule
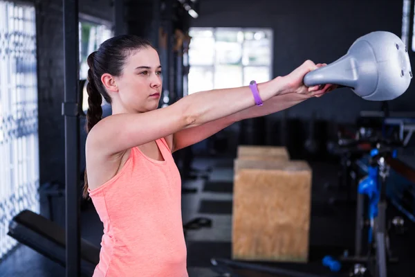
[[[80,170],[77,85],[79,80],[78,1],[63,0],[66,181],[66,277],[80,276]]]

